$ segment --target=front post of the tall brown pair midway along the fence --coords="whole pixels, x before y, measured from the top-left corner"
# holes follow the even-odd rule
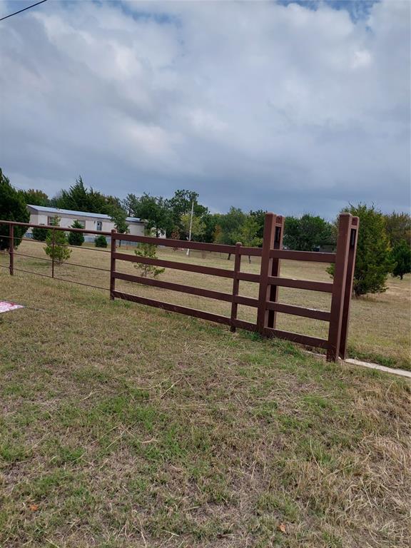
[[[265,214],[257,310],[257,330],[260,335],[264,334],[264,328],[268,326],[268,310],[266,303],[270,299],[270,285],[268,285],[268,276],[273,270],[273,259],[270,258],[270,250],[273,249],[275,241],[276,218],[277,215],[274,213]]]

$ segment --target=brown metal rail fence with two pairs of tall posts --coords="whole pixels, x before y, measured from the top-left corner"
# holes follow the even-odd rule
[[[106,235],[111,237],[111,250],[101,250],[105,253],[110,253],[110,268],[101,269],[92,266],[83,266],[86,268],[96,268],[96,270],[107,270],[110,273],[110,298],[121,298],[130,300],[134,303],[142,305],[162,308],[171,312],[181,313],[203,320],[210,320],[216,323],[230,325],[230,330],[235,331],[236,328],[255,331],[264,337],[278,337],[293,342],[298,342],[310,347],[320,347],[327,350],[327,359],[336,361],[338,357],[344,358],[347,351],[347,330],[350,318],[350,300],[352,294],[352,280],[355,268],[355,251],[357,246],[357,233],[359,221],[357,217],[352,217],[350,213],[342,213],[338,225],[338,240],[335,253],[320,253],[312,251],[292,251],[283,249],[283,232],[285,218],[274,213],[265,215],[263,247],[250,248],[245,247],[241,243],[236,245],[222,245],[215,243],[188,242],[184,240],[172,240],[170,238],[151,238],[149,236],[136,236],[130,234],[119,234],[115,230],[111,233],[75,229],[62,227],[47,227],[50,230],[64,230],[73,232],[82,232],[96,235]],[[14,250],[14,225],[24,225],[27,227],[46,228],[44,225],[31,225],[26,223],[14,223],[12,221],[0,221],[10,226],[10,263],[9,271],[13,275],[14,270],[14,255],[24,255],[16,253]],[[148,258],[128,253],[121,253],[116,243],[118,240],[131,243],[149,243],[153,245],[162,245],[171,248],[184,248],[228,253],[234,255],[234,268],[228,270],[225,268],[214,268],[210,266],[195,265],[192,263],[182,263],[173,260],[163,260],[159,258]],[[260,273],[245,273],[241,271],[241,259],[243,256],[260,257]],[[29,255],[24,255],[29,256]],[[311,280],[295,280],[292,278],[282,278],[280,276],[280,261],[281,260],[302,260],[315,261],[320,263],[335,263],[335,274],[333,281],[320,282]],[[141,263],[146,265],[155,265],[164,268],[173,268],[186,272],[200,273],[205,275],[213,275],[222,278],[233,280],[231,293],[223,293],[221,291],[197,288],[180,283],[172,283],[164,280],[156,280],[138,275],[121,273],[116,270],[118,261],[128,261],[131,263]],[[51,276],[54,276],[54,258],[51,259]],[[22,270],[26,272],[26,270]],[[80,282],[80,285],[88,285]],[[210,298],[231,303],[230,317],[219,314],[205,312],[204,310],[196,310],[181,305],[165,303],[160,300],[131,295],[116,290],[116,280],[124,280],[127,282],[140,283],[151,285],[156,288],[198,295],[200,297]],[[259,284],[258,298],[250,298],[240,295],[240,282],[254,282]],[[96,286],[91,286],[96,287]],[[313,308],[304,308],[295,305],[288,305],[278,302],[278,288],[298,288],[303,290],[320,291],[331,294],[330,310],[316,310]],[[106,289],[106,288],[101,288]],[[246,305],[257,309],[257,319],[255,323],[240,320],[237,317],[238,305]],[[291,333],[289,331],[278,330],[276,328],[277,313],[292,314],[302,316],[303,318],[313,318],[315,320],[323,320],[329,323],[328,338],[318,338],[310,335],[301,335],[299,333]]]

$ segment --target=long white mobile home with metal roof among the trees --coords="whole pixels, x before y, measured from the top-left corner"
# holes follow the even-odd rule
[[[59,225],[64,228],[70,228],[75,220],[86,230],[97,230],[102,232],[111,232],[114,226],[109,215],[104,213],[85,213],[84,211],[73,211],[69,209],[49,208],[42,205],[27,205],[30,213],[30,223],[33,225],[52,225],[54,218],[60,219]],[[145,223],[136,217],[127,217],[128,230],[135,236],[144,235]],[[31,237],[31,228],[27,232]],[[96,235],[84,235],[86,241],[94,241]]]

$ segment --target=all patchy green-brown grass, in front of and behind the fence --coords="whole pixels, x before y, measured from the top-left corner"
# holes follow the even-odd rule
[[[21,253],[28,245],[33,253],[31,243]],[[91,253],[76,250],[71,260]],[[98,261],[106,266],[108,255],[95,253]],[[49,268],[30,258],[16,266]],[[284,264],[283,273],[296,276],[296,268]],[[58,272],[107,285],[107,273],[69,265]],[[326,279],[313,265],[300,273]],[[185,279],[199,285],[195,276]],[[163,279],[182,280],[171,271]],[[353,303],[353,348],[408,360],[407,287],[395,282],[385,295]],[[245,295],[253,290],[242,286]],[[297,293],[283,296],[299,303]],[[1,547],[410,546],[406,380],[111,302],[101,290],[11,278],[3,268],[0,300],[26,305],[0,315]],[[243,318],[254,313],[242,310]]]

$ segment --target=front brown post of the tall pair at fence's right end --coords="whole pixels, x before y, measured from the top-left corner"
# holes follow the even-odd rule
[[[327,360],[336,362],[340,355],[342,307],[344,305],[345,283],[347,280],[347,259],[350,246],[352,215],[341,213],[338,223],[337,252],[333,293],[331,297],[330,328],[328,330]]]

